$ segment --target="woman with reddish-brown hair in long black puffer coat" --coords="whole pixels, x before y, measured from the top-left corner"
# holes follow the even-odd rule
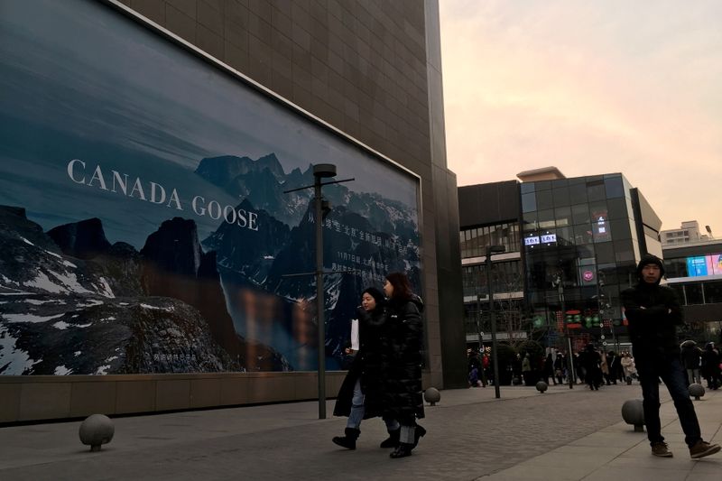
[[[421,389],[421,348],[423,347],[423,303],[412,293],[405,273],[386,276],[384,293],[388,299],[387,322],[390,324],[390,347],[386,371],[384,417],[399,421],[399,445],[391,458],[411,456],[419,439],[426,434],[416,419],[424,417]]]

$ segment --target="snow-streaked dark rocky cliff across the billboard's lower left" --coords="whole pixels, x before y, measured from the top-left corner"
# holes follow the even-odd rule
[[[290,367],[236,335],[215,253],[200,251],[192,221],[164,223],[142,253],[125,243],[84,248],[105,238],[95,221],[52,230],[87,258],[62,252],[22,208],[0,206],[0,375]]]

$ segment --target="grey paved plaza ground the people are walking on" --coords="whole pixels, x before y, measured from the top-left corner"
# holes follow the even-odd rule
[[[116,418],[113,441],[91,453],[79,421],[0,428],[0,479],[686,480],[722,479],[722,453],[693,461],[662,386],[662,432],[674,458],[654,458],[622,421],[638,384],[447,390],[427,405],[429,431],[413,456],[379,449],[384,423],[366,420],[355,451],[331,442],[345,418],[318,402]],[[722,393],[695,401],[702,434],[722,442]]]

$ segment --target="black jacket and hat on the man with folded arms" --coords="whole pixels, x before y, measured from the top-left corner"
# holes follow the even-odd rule
[[[634,356],[663,354],[680,356],[677,326],[683,323],[680,302],[669,287],[651,284],[642,279],[644,265],[657,264],[664,275],[662,261],[654,255],[645,255],[637,265],[639,282],[636,287],[622,292],[622,305],[629,320],[629,338]]]

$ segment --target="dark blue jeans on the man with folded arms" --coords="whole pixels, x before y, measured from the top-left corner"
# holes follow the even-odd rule
[[[636,353],[635,353],[636,354]],[[662,423],[660,421],[660,383],[662,378],[674,401],[680,424],[684,431],[684,442],[690,448],[701,438],[697,413],[690,399],[684,371],[678,356],[640,355],[636,357],[639,383],[642,384],[644,424],[647,425],[647,438],[650,444],[662,442]]]

